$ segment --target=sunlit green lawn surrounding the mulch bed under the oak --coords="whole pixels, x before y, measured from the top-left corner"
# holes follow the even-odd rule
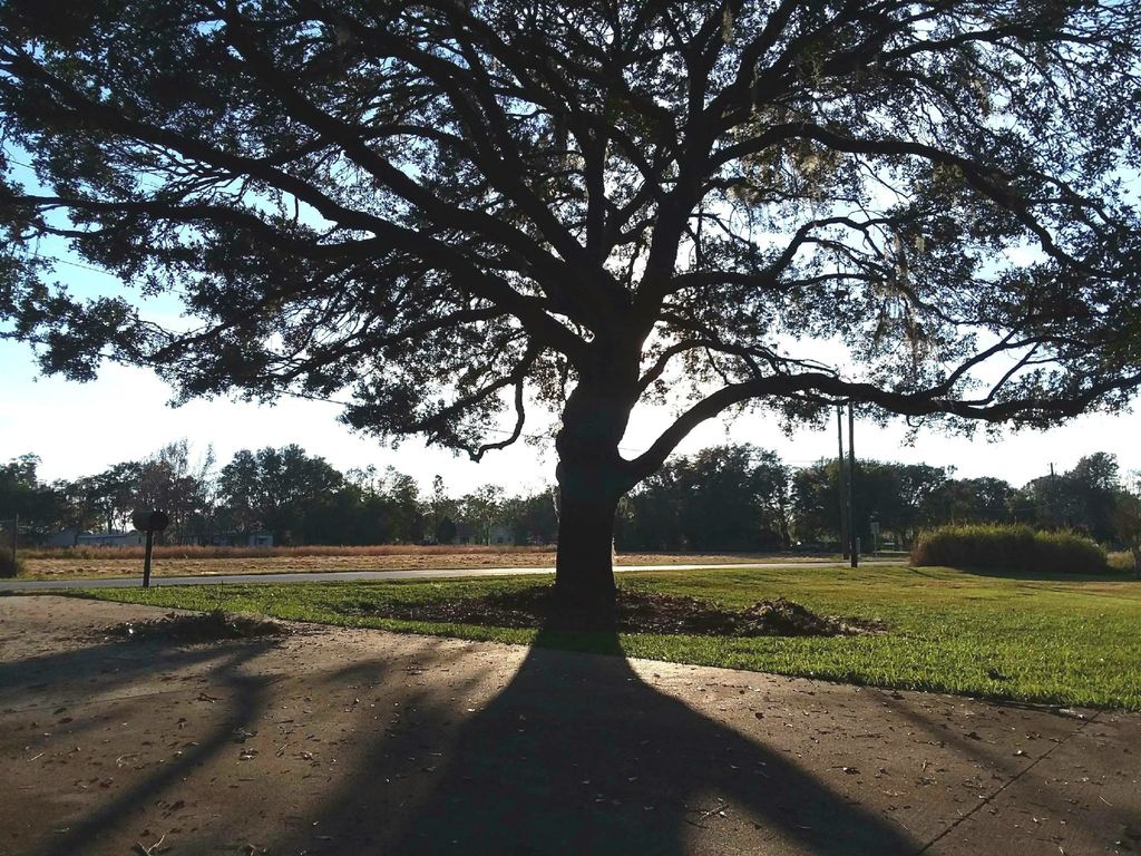
[[[495,578],[439,582],[105,589],[83,597],[224,608],[346,627],[624,653],[628,656],[1029,702],[1141,710],[1141,583],[1125,578],[980,575],[864,567],[624,573],[620,586],[744,607],[784,596],[888,632],[832,638],[569,635],[378,617],[393,604],[547,586]]]

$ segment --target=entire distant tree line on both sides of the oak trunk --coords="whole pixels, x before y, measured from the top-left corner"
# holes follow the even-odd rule
[[[136,508],[170,515],[172,543],[244,543],[269,532],[278,544],[552,543],[556,492],[507,495],[484,485],[452,495],[440,476],[423,492],[393,467],[341,473],[298,445],[242,450],[222,467],[212,450],[186,441],[103,473],[51,483],[39,459],[0,466],[0,520],[19,516],[22,536],[130,528]],[[845,475],[847,478],[847,475]],[[994,477],[956,478],[953,467],[857,461],[856,532],[865,549],[873,524],[880,543],[906,547],[946,523],[1027,523],[1073,528],[1104,543],[1141,531],[1136,477],[1117,460],[1087,455],[1069,471],[1021,487]],[[840,470],[835,460],[794,468],[771,451],[722,445],[678,457],[623,500],[620,550],[755,551],[822,549],[839,543]]]

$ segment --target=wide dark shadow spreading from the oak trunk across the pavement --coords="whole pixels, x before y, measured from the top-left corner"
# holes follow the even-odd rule
[[[507,686],[462,722],[450,724],[455,710],[414,702],[421,748],[435,741],[445,750],[434,753],[436,766],[410,775],[413,759],[402,756],[411,745],[387,730],[371,745],[362,738],[353,775],[316,809],[319,837],[298,831],[273,851],[891,856],[919,849],[900,827],[852,805],[788,754],[655,689],[624,656],[543,647],[550,633],[540,633]],[[616,636],[605,641],[621,654]]]

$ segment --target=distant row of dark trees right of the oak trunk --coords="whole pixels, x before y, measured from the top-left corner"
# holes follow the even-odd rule
[[[947,523],[1012,522],[1125,543],[1138,517],[1136,478],[1123,481],[1116,458],[1104,452],[1022,487],[994,477],[956,478],[953,467],[872,460],[857,461],[855,479],[855,526],[865,549],[873,543],[873,523],[879,524],[880,543],[898,547],[909,546],[923,528]],[[793,468],[755,446],[715,446],[667,462],[624,501],[617,546],[697,551],[837,547],[841,501],[835,459]]]

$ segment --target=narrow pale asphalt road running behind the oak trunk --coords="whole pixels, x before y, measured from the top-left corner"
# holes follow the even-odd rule
[[[726,571],[743,568],[835,567],[840,562],[753,562],[733,565],[615,565],[625,571],[695,571],[717,567]],[[872,559],[865,565],[903,565],[900,559]],[[218,583],[270,582],[362,582],[367,580],[443,580],[463,576],[511,576],[515,574],[553,574],[553,567],[478,567],[469,570],[420,568],[416,571],[302,571],[282,574],[195,574],[193,576],[152,576],[151,586],[217,586]],[[58,589],[116,589],[140,586],[139,576],[112,576],[94,580],[0,580],[0,591],[50,591]]]

